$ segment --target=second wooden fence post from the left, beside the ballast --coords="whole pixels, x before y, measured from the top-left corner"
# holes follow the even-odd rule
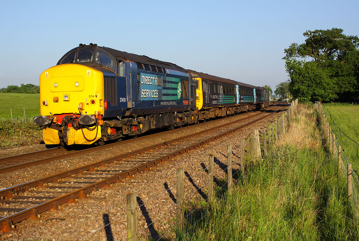
[[[176,218],[177,218],[177,229],[182,230],[183,228],[183,217],[184,217],[184,203],[185,203],[185,171],[182,168],[177,169],[177,195],[176,195]]]

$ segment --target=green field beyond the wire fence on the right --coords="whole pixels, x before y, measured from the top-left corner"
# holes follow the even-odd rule
[[[354,141],[359,143],[359,105],[340,103],[325,104],[323,109],[336,138],[344,149],[346,157],[350,163],[355,165],[354,168],[357,168],[359,165],[359,150],[357,151],[357,146]],[[333,121],[336,125],[334,125]],[[339,131],[339,128],[342,133]],[[346,137],[343,132],[354,141]]]

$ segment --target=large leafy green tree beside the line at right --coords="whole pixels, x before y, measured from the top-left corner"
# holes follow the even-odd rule
[[[358,36],[342,29],[306,31],[305,43],[284,49],[289,91],[301,101],[358,101]]]

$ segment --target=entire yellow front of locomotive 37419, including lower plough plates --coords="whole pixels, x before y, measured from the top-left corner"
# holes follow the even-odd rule
[[[43,129],[46,144],[59,144],[60,141],[65,141],[67,145],[88,144],[89,139],[94,139],[90,141],[92,143],[101,137],[101,128],[94,131],[85,129],[82,133],[74,128],[74,123],[64,119],[69,116],[79,118],[80,115],[96,115],[98,118],[104,113],[101,71],[72,63],[53,66],[40,75],[40,101],[41,116],[48,117],[52,124]],[[87,140],[84,134],[87,134]]]

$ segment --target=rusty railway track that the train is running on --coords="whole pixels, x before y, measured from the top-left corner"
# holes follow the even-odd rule
[[[271,110],[271,109],[266,109],[265,111],[269,111],[269,110]],[[253,116],[255,116],[257,114],[254,114]],[[200,124],[197,124],[196,126],[198,127],[198,126],[201,126],[204,124],[209,124],[209,123],[216,122],[216,121],[218,121],[218,119],[209,121],[206,123],[200,123]],[[188,126],[188,127],[182,127],[180,129],[185,130],[187,128],[192,128],[192,127],[193,126]],[[46,150],[40,150],[40,151],[23,153],[23,154],[14,155],[14,156],[2,157],[2,158],[0,158],[0,174],[8,173],[10,171],[24,169],[24,168],[31,167],[34,165],[45,164],[45,163],[59,160],[59,159],[78,156],[78,155],[90,153],[93,151],[104,150],[106,148],[112,148],[112,147],[120,146],[120,145],[123,145],[126,143],[144,140],[147,138],[153,138],[153,137],[160,136],[163,134],[174,133],[174,132],[177,132],[178,130],[179,129],[174,129],[174,130],[164,131],[164,132],[159,132],[159,133],[154,133],[154,134],[147,134],[147,135],[138,137],[136,139],[129,139],[129,140],[124,140],[122,142],[109,143],[104,146],[90,147],[90,148],[86,148],[86,149],[81,149],[81,147],[80,147],[80,149],[79,149],[79,147],[75,147],[75,149],[71,149],[71,147],[69,147],[70,149],[67,150],[64,147],[54,147],[54,148],[50,148],[50,149],[46,149]],[[41,157],[41,158],[39,158],[39,157]]]

